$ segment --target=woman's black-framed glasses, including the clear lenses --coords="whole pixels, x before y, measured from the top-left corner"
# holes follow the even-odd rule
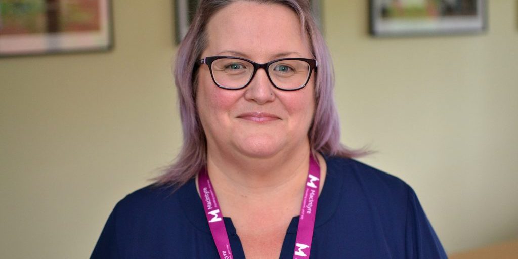
[[[237,56],[208,56],[198,60],[197,64],[207,64],[212,81],[223,89],[238,90],[247,87],[257,70],[263,68],[271,84],[285,91],[295,91],[305,87],[311,71],[316,70],[318,66],[316,60],[298,57],[259,64]]]

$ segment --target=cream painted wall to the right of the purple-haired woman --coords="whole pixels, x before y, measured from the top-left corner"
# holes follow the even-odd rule
[[[342,140],[407,181],[449,252],[518,238],[518,3],[487,33],[372,39],[367,1],[326,1]]]

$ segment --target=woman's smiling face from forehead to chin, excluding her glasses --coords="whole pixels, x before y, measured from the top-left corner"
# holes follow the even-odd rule
[[[282,57],[312,58],[295,12],[279,4],[238,1],[215,13],[207,24],[206,56],[240,56],[257,63]],[[209,67],[198,72],[196,105],[208,151],[220,155],[271,157],[309,148],[314,110],[314,72],[303,89],[283,91],[259,69],[250,84],[226,90],[212,81]],[[237,152],[237,153],[236,153]]]

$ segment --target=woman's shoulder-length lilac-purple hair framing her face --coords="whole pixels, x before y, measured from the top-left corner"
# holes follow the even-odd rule
[[[195,62],[207,47],[206,27],[211,17],[223,7],[243,0],[202,0],[188,33],[181,42],[173,68],[182,120],[183,146],[174,163],[153,178],[155,185],[175,185],[189,181],[207,163],[207,140],[196,109],[197,76]],[[340,143],[340,125],[333,98],[334,70],[327,45],[311,15],[308,0],[246,0],[256,3],[280,4],[296,12],[303,36],[310,41],[318,61],[315,70],[315,111],[308,138],[311,152],[341,157],[357,157],[363,150],[351,150]]]

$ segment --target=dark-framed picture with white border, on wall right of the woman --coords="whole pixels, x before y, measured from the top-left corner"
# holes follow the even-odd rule
[[[412,36],[479,33],[485,0],[370,0],[370,34]]]

